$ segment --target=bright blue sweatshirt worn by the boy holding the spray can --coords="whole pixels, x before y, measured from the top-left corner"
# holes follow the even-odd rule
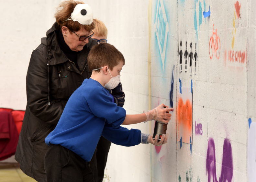
[[[101,135],[117,145],[138,145],[141,131],[120,126],[126,111],[113,103],[108,93],[99,82],[85,79],[70,96],[45,143],[68,148],[87,162],[91,160]]]

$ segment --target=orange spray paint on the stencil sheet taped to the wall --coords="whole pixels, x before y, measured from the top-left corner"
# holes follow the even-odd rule
[[[179,98],[177,121],[179,136],[182,136],[183,141],[185,139],[188,140],[189,143],[190,134],[192,132],[192,103],[189,99],[184,103],[183,99],[181,97]]]

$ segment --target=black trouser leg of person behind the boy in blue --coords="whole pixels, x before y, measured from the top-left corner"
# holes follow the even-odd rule
[[[93,171],[94,179],[96,182],[102,182],[104,178],[104,171],[107,163],[107,155],[109,152],[111,142],[104,137],[100,137],[90,167]]]

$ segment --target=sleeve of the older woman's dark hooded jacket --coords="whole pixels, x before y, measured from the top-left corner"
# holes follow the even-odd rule
[[[48,68],[40,50],[32,52],[26,78],[27,101],[30,111],[47,123],[57,125],[66,101],[51,100],[48,105]]]

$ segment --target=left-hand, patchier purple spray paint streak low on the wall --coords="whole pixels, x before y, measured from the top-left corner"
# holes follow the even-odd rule
[[[215,157],[215,144],[212,137],[208,140],[207,157],[206,157],[206,175],[208,172],[208,182],[213,178],[213,182],[217,181],[216,176],[216,157]]]

